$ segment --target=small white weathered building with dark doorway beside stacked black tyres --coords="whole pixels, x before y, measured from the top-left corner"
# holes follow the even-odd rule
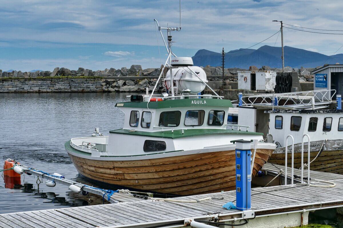
[[[238,71],[237,73],[239,90],[274,91],[276,85],[275,71]]]

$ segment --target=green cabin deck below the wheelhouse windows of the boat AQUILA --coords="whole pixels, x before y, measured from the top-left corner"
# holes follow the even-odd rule
[[[158,137],[158,138],[173,138],[173,139],[174,138],[191,137],[191,136],[199,136],[199,135],[213,135],[213,134],[263,135],[263,133],[228,130],[228,129],[188,129],[188,130],[184,130],[184,134],[182,134],[182,130],[174,130],[174,133],[171,133],[171,131],[157,131],[157,132],[134,131],[134,132],[129,132],[128,129],[118,129],[118,130],[110,131],[109,133],[149,136],[149,137]]]

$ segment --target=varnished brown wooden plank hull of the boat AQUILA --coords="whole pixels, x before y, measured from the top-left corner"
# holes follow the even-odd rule
[[[255,176],[272,149],[257,149]],[[69,152],[68,152],[69,153]],[[78,172],[100,182],[175,195],[194,195],[235,189],[235,150],[176,157],[100,161],[69,156]]]

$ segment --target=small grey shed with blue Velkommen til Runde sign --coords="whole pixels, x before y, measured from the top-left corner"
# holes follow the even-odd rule
[[[314,90],[336,90],[336,94],[343,94],[343,64],[327,65],[312,71],[314,74]],[[333,92],[327,94],[330,98]],[[332,99],[336,98],[336,94]]]

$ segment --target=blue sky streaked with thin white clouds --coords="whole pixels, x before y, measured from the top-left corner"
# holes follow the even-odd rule
[[[177,26],[178,1],[167,0],[0,0],[0,69],[29,71],[55,67],[92,70],[158,67],[166,55],[157,47],[153,19]],[[173,33],[178,56],[199,49],[220,52],[246,48],[287,24],[342,29],[343,1],[184,0],[182,29]],[[160,38],[160,37],[159,37]],[[332,55],[343,35],[284,30],[287,46]],[[274,45],[276,36],[255,46]],[[280,36],[276,46],[280,46]],[[162,44],[162,40],[159,40]],[[343,53],[342,50],[338,53]]]

